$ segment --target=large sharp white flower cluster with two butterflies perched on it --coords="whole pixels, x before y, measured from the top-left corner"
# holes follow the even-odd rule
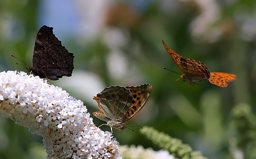
[[[121,158],[118,142],[92,122],[83,102],[25,72],[0,72],[0,116],[44,137],[48,158]]]

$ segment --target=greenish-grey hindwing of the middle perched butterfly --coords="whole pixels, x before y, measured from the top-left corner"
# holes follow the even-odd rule
[[[132,94],[129,89],[121,86],[106,87],[97,94],[100,106],[105,117],[122,123],[132,103]]]

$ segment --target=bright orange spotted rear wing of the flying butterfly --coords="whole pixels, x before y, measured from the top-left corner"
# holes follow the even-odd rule
[[[207,81],[220,87],[227,87],[228,82],[231,82],[233,80],[236,80],[235,74],[224,72],[211,72],[211,76]]]

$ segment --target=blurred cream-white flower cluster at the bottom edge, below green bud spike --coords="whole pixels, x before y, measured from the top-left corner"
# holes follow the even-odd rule
[[[152,148],[143,148],[141,145],[135,147],[132,146],[119,146],[120,153],[126,159],[155,159],[155,158],[164,158],[164,159],[174,159],[168,151],[159,150],[154,151]]]

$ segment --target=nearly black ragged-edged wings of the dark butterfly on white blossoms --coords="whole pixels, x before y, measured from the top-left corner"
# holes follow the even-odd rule
[[[61,42],[53,34],[53,27],[42,26],[36,36],[33,69],[42,70],[46,77],[62,76],[70,77],[74,69],[73,53],[61,45]]]

